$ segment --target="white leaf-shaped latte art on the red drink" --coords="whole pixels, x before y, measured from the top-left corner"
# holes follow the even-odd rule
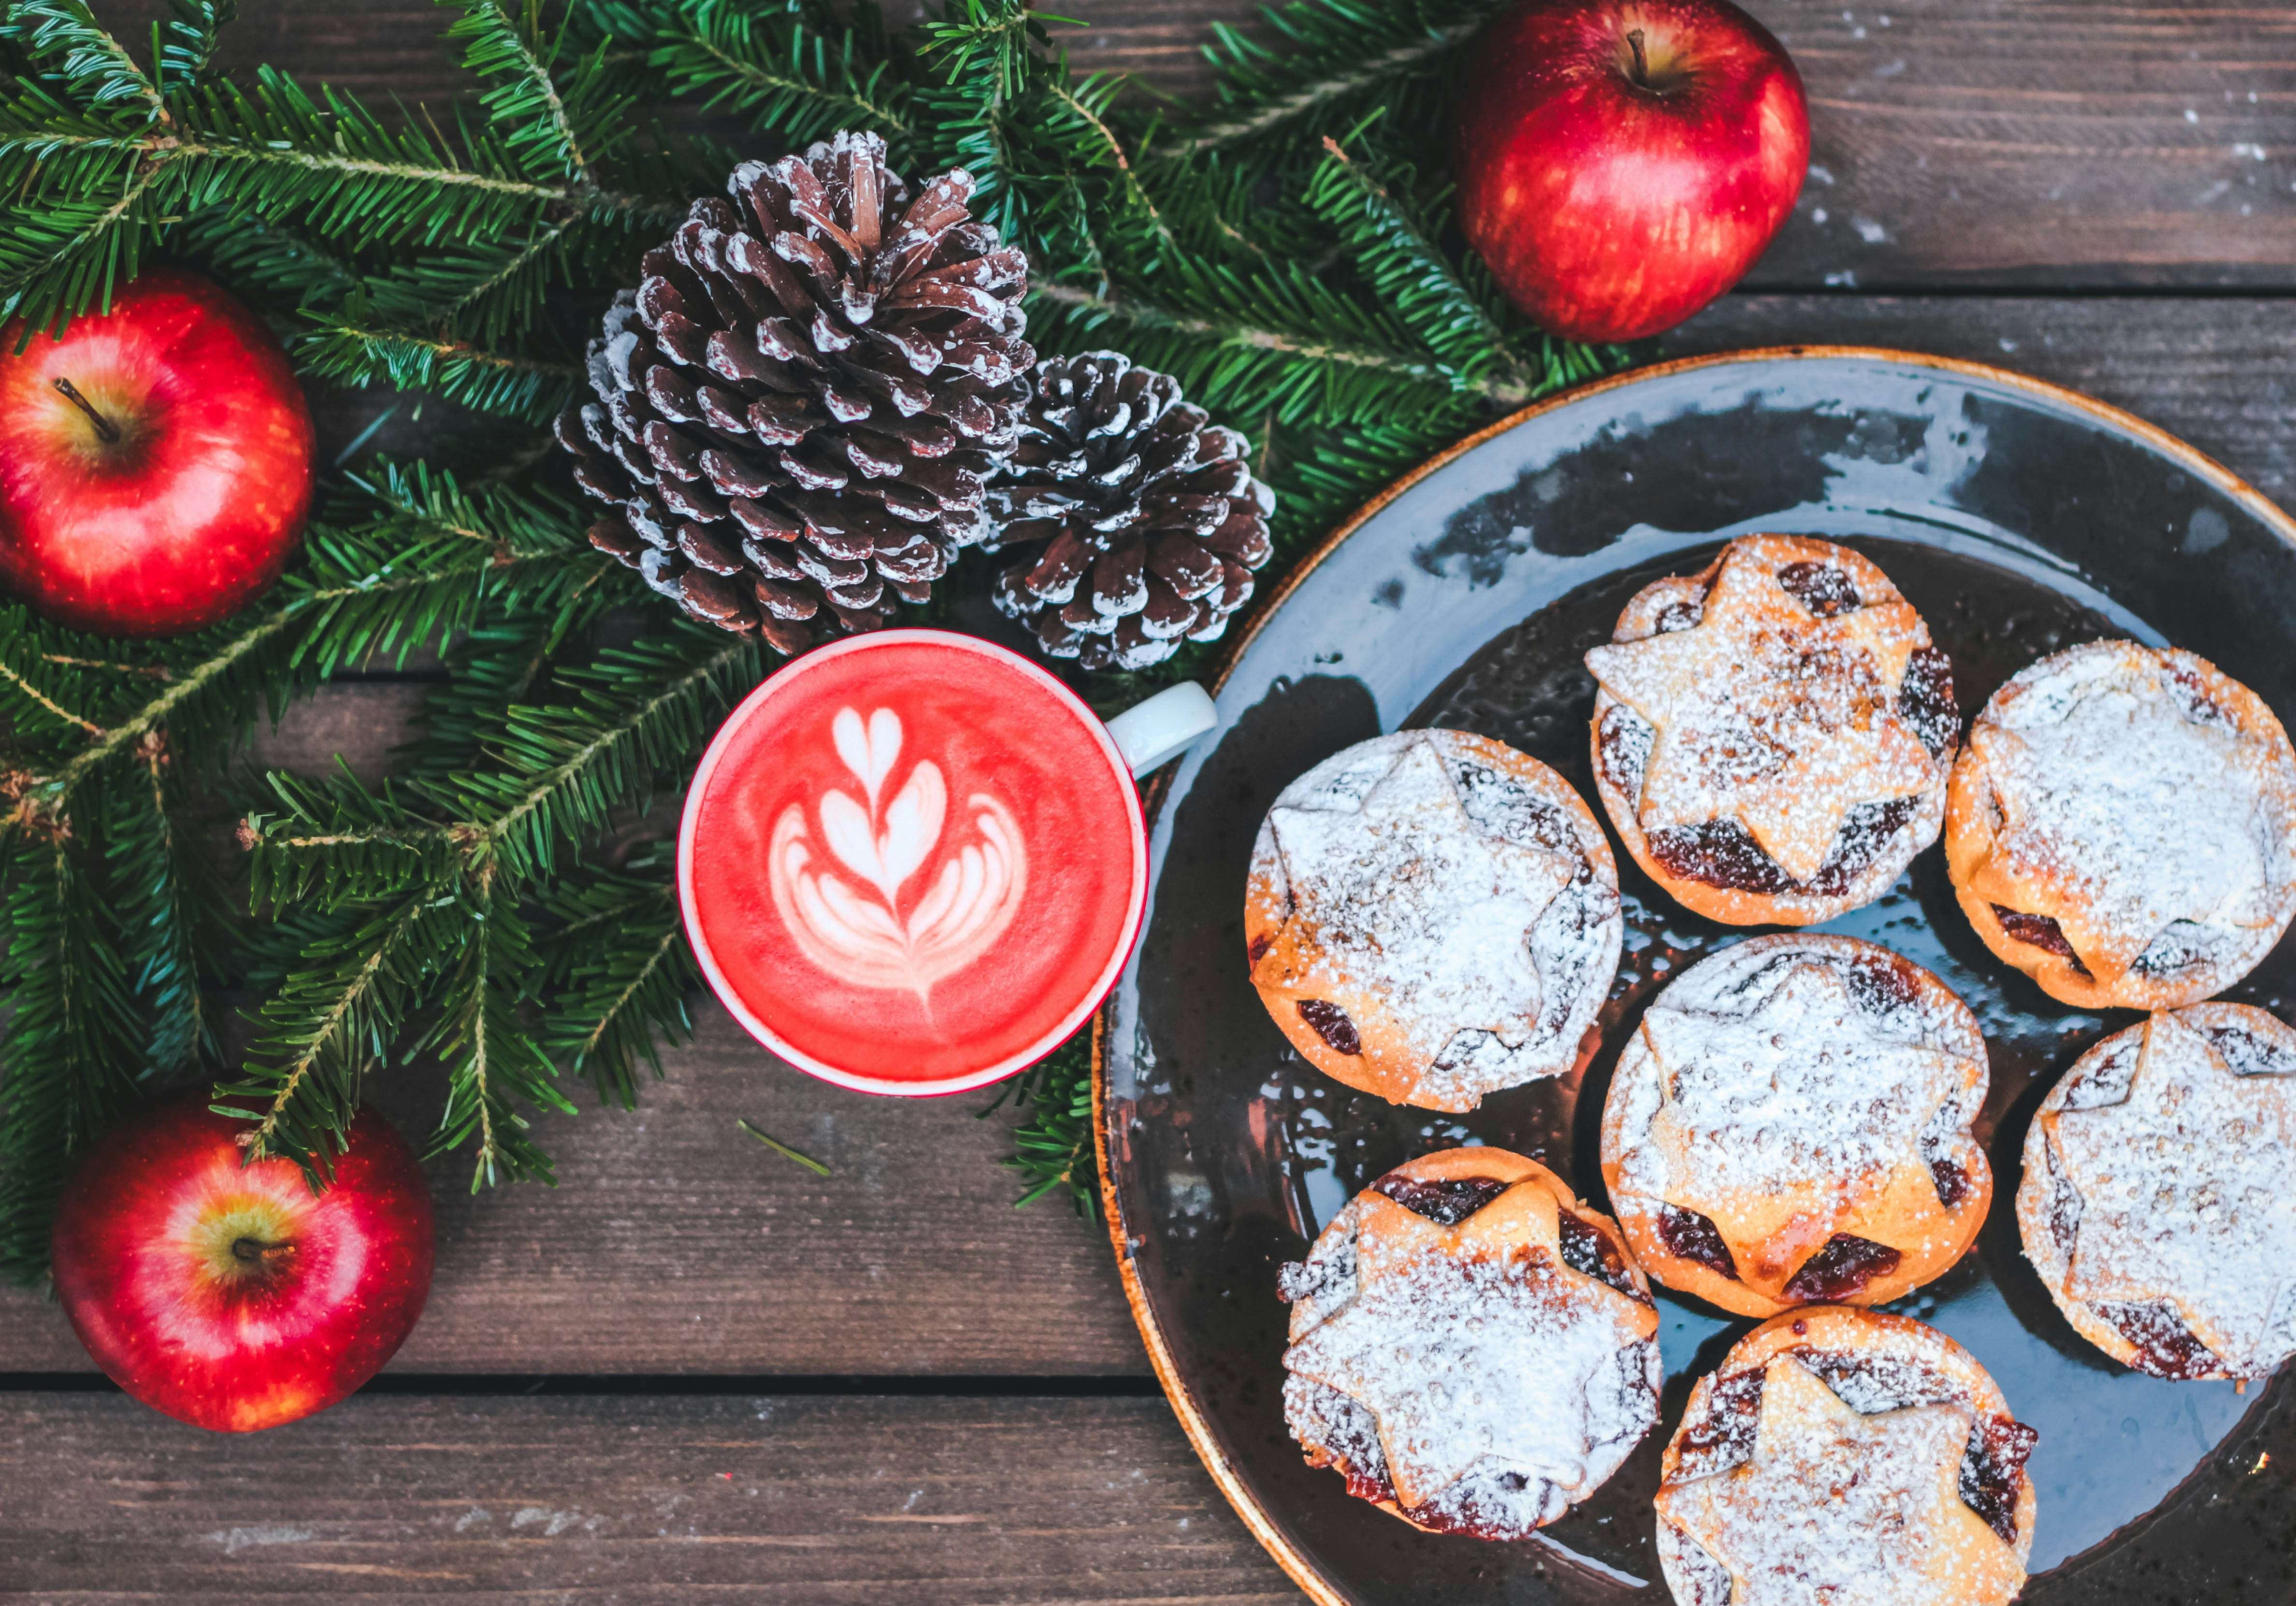
[[[781,812],[769,849],[774,909],[799,952],[829,975],[916,993],[930,1012],[932,989],[978,961],[1019,913],[1029,883],[1019,824],[999,798],[974,792],[960,831],[969,824],[976,840],[944,844],[948,780],[939,764],[918,759],[882,801],[900,762],[900,716],[875,709],[863,720],[838,709],[829,730],[866,801],[840,787],[822,794],[820,842],[833,865],[817,856],[806,805]],[[905,890],[934,853],[939,874],[905,911]]]

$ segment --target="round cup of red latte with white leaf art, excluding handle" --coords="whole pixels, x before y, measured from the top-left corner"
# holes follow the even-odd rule
[[[1148,895],[1100,720],[969,636],[882,631],[760,686],[693,775],[687,934],[774,1053],[868,1092],[1024,1069],[1093,1012]]]

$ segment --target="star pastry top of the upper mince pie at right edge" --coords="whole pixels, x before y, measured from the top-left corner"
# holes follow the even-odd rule
[[[2177,920],[2257,927],[2278,918],[2262,810],[2273,753],[2186,718],[2151,654],[2076,661],[1970,732],[2000,824],[1970,876],[1979,897],[2048,915],[2080,964],[2117,982]]]

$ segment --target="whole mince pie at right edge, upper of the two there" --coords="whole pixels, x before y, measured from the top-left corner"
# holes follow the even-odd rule
[[[2296,750],[2190,652],[2057,652],[1977,716],[1945,863],[1977,936],[2050,998],[2200,1003],[2296,915]]]

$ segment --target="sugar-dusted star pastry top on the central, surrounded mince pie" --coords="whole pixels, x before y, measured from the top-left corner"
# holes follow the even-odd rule
[[[1892,1035],[1839,966],[1795,964],[1743,1014],[1660,1000],[1642,1037],[1662,1104],[1649,1143],[1621,1156],[1621,1186],[1763,1244],[1775,1264],[1752,1278],[1791,1276],[1892,1188],[1908,1221],[1938,1214],[1922,1131],[1981,1069]]]

